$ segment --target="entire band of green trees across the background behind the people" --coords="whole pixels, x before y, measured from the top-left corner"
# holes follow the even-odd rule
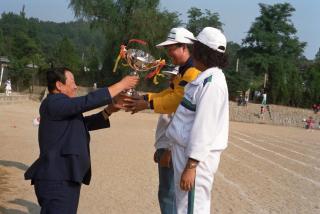
[[[223,31],[220,14],[191,7],[183,23],[177,12],[160,10],[159,0],[70,0],[78,18],[75,22],[44,22],[20,14],[3,13],[0,18],[0,56],[10,59],[13,86],[45,84],[41,74],[50,66],[67,66],[80,85],[99,87],[118,81],[130,69],[112,68],[120,45],[140,39],[148,45],[130,43],[157,59],[170,58],[156,44],[163,42],[169,30],[185,26],[196,36],[204,27]],[[290,106],[320,103],[320,49],[314,60],[303,56],[305,42],[297,37],[291,21],[295,8],[288,3],[259,4],[260,15],[253,21],[242,44],[228,41],[229,65],[224,70],[231,98],[248,89],[268,93],[268,101]],[[228,35],[226,35],[228,38]],[[268,77],[264,86],[264,77]],[[36,78],[36,79],[37,79]],[[164,80],[164,79],[163,79]],[[154,85],[141,81],[142,90],[160,90],[167,80]]]

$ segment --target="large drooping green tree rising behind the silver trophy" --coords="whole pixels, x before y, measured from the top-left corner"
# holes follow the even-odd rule
[[[102,29],[105,34],[101,84],[111,84],[121,77],[124,70],[112,73],[112,68],[120,45],[127,44],[130,39],[147,41],[149,45],[142,48],[147,48],[155,57],[161,55],[154,45],[161,42],[179,21],[176,13],[160,12],[158,5],[159,0],[70,1],[77,17],[91,21],[92,26]]]

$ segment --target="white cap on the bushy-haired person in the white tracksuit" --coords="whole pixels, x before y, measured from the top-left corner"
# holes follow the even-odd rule
[[[220,53],[224,53],[227,48],[227,39],[225,35],[214,27],[203,28],[196,40]]]

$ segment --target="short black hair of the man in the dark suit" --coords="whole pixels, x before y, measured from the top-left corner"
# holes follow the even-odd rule
[[[47,71],[47,86],[48,91],[50,93],[53,92],[54,89],[56,89],[56,82],[60,81],[63,84],[66,83],[66,71],[71,71],[70,69],[66,67],[59,67],[59,68],[51,68]]]

